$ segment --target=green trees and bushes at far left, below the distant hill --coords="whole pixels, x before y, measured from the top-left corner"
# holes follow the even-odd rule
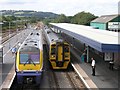
[[[36,17],[16,17],[11,16],[0,16],[0,22],[2,22],[2,30],[8,29],[23,29],[27,23],[36,23]]]

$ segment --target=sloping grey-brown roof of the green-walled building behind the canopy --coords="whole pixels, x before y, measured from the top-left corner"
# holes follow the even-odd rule
[[[111,20],[113,20],[114,18],[118,17],[119,15],[104,15],[104,16],[101,16],[99,18],[96,18],[94,19],[93,21],[91,22],[100,22],[100,23],[107,23]]]

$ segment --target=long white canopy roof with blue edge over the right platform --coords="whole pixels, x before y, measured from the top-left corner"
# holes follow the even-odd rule
[[[51,23],[51,25],[100,52],[120,52],[120,42],[118,41],[120,35],[118,32],[67,23]]]

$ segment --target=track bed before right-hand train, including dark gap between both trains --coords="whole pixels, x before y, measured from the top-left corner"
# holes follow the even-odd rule
[[[48,54],[45,54],[44,66],[47,72],[49,88],[54,90],[60,89],[73,89],[73,90],[85,90],[85,86],[82,83],[79,76],[76,74],[72,66],[68,70],[53,70],[48,62]],[[45,64],[46,63],[46,64]]]

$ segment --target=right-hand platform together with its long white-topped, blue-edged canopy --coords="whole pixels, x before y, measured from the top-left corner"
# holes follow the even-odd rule
[[[72,47],[77,50],[85,50],[87,60],[81,62],[83,52],[74,52],[80,67],[95,83],[98,88],[118,90],[120,87],[120,43],[119,33],[93,29],[88,26],[82,26],[69,23],[50,23],[51,29],[60,33]],[[82,46],[82,47],[81,47]],[[76,51],[77,51],[76,50]],[[82,50],[82,51],[83,51]],[[92,76],[91,57],[96,60],[96,76]],[[113,60],[115,68],[109,70],[109,61]]]

